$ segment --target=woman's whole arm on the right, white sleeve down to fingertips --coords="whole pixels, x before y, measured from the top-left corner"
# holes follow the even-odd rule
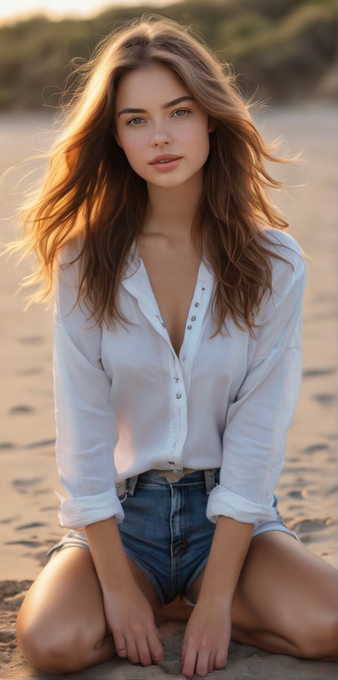
[[[273,263],[273,294],[256,318],[248,371],[229,405],[223,435],[220,484],[207,517],[217,522],[195,611],[184,636],[183,674],[224,668],[231,631],[231,602],[254,524],[275,519],[273,491],[282,471],[286,433],[301,385],[301,322],[305,266],[301,253]],[[195,642],[197,639],[197,644]],[[214,664],[214,665],[213,665]]]

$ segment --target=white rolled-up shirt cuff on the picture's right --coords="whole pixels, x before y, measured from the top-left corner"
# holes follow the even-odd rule
[[[220,484],[212,490],[207,501],[207,519],[216,524],[218,515],[232,517],[237,522],[254,524],[255,527],[277,519],[273,505],[253,503]]]

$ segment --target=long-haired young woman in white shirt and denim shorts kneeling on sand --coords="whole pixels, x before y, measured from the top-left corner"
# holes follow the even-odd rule
[[[276,160],[233,79],[150,17],[86,67],[18,244],[56,283],[56,456],[70,531],[18,615],[22,653],[67,673],[163,660],[189,603],[182,673],[230,639],[337,656],[337,572],[274,490],[301,381],[305,267],[267,198]],[[336,599],[336,602],[335,602]]]

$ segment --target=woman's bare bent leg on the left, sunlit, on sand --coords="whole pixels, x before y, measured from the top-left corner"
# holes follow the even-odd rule
[[[134,562],[130,564],[139,587],[156,609],[154,586]],[[24,657],[33,668],[48,673],[72,673],[114,656],[114,640],[107,630],[89,550],[67,547],[48,562],[22,602],[16,627]]]

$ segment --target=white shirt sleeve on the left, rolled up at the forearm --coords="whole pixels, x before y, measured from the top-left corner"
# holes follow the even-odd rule
[[[82,528],[124,513],[116,495],[114,449],[118,428],[111,400],[111,380],[101,364],[101,327],[88,320],[78,295],[79,264],[63,250],[56,269],[54,311],[54,401],[56,461],[69,498],[60,494],[61,526]],[[74,307],[75,305],[75,307]]]

